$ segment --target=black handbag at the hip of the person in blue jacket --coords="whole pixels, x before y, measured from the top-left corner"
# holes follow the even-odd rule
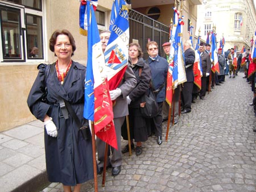
[[[158,102],[156,102],[155,94],[151,88],[148,94],[142,96],[140,110],[144,118],[154,118],[158,114]]]

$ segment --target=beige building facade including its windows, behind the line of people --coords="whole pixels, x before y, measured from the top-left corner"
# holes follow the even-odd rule
[[[148,6],[148,2],[153,4]],[[98,1],[99,30],[108,30],[112,3],[113,0]],[[199,4],[200,0],[183,1],[185,19],[196,23],[196,6]],[[27,96],[38,74],[38,64],[56,60],[48,48],[53,31],[65,28],[72,33],[77,47],[72,59],[86,65],[87,37],[79,33],[79,6],[79,1],[0,0],[0,131],[35,120],[27,107]],[[134,1],[134,6],[145,16],[151,16],[147,11],[158,7],[160,16],[156,20],[169,26],[173,0]],[[130,27],[130,30],[134,29]],[[184,31],[184,39],[188,39],[187,30]],[[145,39],[146,35],[142,35],[141,39]],[[154,40],[158,35],[151,36]],[[135,35],[130,35],[130,39],[136,39]],[[159,46],[163,41],[166,39],[159,40]]]

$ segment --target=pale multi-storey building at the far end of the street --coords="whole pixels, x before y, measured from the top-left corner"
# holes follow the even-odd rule
[[[204,0],[197,9],[197,28],[201,39],[207,39],[207,33],[216,27],[218,43],[225,39],[224,51],[236,46],[241,51],[251,47],[251,39],[256,30],[256,11],[253,0]],[[220,44],[218,44],[220,45]]]

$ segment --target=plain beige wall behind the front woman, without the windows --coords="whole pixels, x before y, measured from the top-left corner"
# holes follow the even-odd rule
[[[79,1],[46,1],[46,63],[56,60],[54,53],[49,51],[48,42],[53,31],[69,30],[76,40],[76,51],[73,60],[86,64],[87,37],[79,34]],[[99,1],[100,7],[110,10],[112,0]],[[0,65],[0,132],[35,120],[27,107],[27,96],[38,74],[36,63]]]

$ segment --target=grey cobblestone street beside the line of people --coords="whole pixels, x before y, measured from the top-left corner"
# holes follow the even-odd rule
[[[105,187],[98,176],[98,191],[256,191],[253,92],[242,76],[226,76],[204,101],[197,98],[192,112],[170,127],[167,142],[159,146],[149,137],[141,156],[126,153],[117,177],[107,170]],[[62,190],[57,183],[51,188]],[[94,191],[93,181],[81,191]]]

